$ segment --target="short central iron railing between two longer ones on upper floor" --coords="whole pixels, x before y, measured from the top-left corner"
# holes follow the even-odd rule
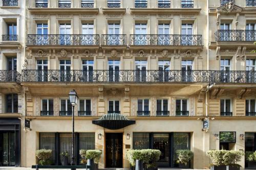
[[[102,34],[101,45],[126,45],[125,34]]]

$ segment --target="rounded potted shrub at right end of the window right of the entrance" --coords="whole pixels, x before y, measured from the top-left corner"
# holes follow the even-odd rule
[[[187,168],[189,161],[193,159],[193,152],[190,150],[177,150],[177,163],[179,163],[179,168]]]

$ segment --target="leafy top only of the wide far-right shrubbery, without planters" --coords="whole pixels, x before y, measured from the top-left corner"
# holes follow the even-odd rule
[[[241,151],[211,150],[206,153],[215,166],[237,165],[244,155]]]

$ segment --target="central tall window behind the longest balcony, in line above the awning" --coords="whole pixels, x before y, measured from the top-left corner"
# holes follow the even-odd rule
[[[109,60],[109,81],[119,81],[120,60]]]

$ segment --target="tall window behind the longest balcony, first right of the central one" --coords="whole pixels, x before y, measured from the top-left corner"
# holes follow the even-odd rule
[[[146,81],[146,60],[135,60],[136,69],[136,81],[145,82]]]

